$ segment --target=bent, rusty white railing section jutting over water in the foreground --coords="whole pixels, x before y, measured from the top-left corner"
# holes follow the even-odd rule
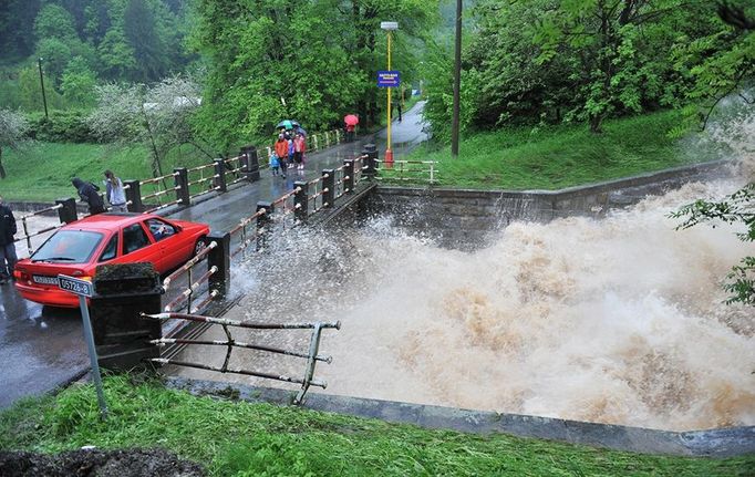
[[[179,360],[174,360],[174,359],[168,359],[168,357],[152,357],[147,359],[147,361],[151,361],[153,363],[158,363],[158,364],[173,364],[177,366],[185,366],[185,367],[195,367],[199,370],[207,370],[207,371],[216,371],[219,373],[232,373],[232,374],[242,374],[246,376],[255,376],[255,377],[261,377],[266,380],[276,380],[276,381],[283,381],[287,383],[294,383],[294,384],[300,384],[301,390],[297,394],[297,396],[293,400],[294,404],[300,404],[304,395],[307,394],[307,391],[309,391],[310,386],[318,386],[322,387],[323,390],[328,386],[328,383],[324,381],[316,380],[314,379],[314,370],[317,366],[318,362],[324,362],[324,363],[331,363],[332,357],[331,356],[323,356],[320,355],[320,340],[322,338],[322,330],[324,329],[335,329],[340,330],[341,329],[341,322],[313,322],[313,323],[251,323],[251,322],[245,322],[245,321],[236,321],[236,320],[226,320],[226,319],[220,319],[220,318],[213,318],[213,317],[203,317],[203,315],[196,315],[196,314],[184,314],[184,313],[158,313],[158,314],[146,314],[142,313],[142,317],[144,318],[151,318],[155,320],[188,320],[188,321],[195,321],[195,322],[201,322],[201,323],[208,323],[208,324],[217,324],[223,326],[223,331],[226,333],[226,341],[220,341],[220,340],[187,340],[187,339],[173,339],[173,338],[162,338],[159,340],[152,340],[149,341],[151,344],[157,344],[161,346],[169,345],[169,344],[182,344],[182,345],[192,345],[192,344],[199,344],[199,345],[215,345],[215,346],[226,346],[226,356],[224,359],[223,365],[221,366],[210,366],[207,364],[203,363],[195,363],[195,362],[187,362],[187,361],[179,361]],[[268,346],[263,344],[255,344],[255,343],[247,343],[242,341],[237,341],[234,339],[234,336],[230,333],[229,326],[235,326],[235,328],[242,328],[242,329],[248,329],[248,330],[312,330],[311,335],[310,335],[310,342],[308,346],[308,352],[307,353],[301,353],[298,351],[293,350],[283,350],[279,348],[273,348],[273,346]],[[282,374],[277,374],[277,373],[268,373],[268,372],[261,372],[261,371],[254,371],[254,370],[245,370],[240,367],[230,367],[228,366],[228,363],[230,362],[231,353],[235,348],[241,348],[241,349],[247,349],[247,350],[256,350],[256,351],[262,351],[267,353],[275,353],[275,354],[283,354],[287,356],[294,356],[294,357],[302,357],[307,360],[307,364],[304,366],[304,372],[302,377],[291,377],[291,376],[286,376]]]

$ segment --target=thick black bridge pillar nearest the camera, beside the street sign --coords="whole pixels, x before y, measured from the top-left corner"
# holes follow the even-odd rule
[[[93,282],[90,315],[100,365],[130,371],[146,357],[159,357],[159,348],[148,341],[163,338],[161,323],[139,317],[162,311],[163,289],[152,263],[100,266]]]

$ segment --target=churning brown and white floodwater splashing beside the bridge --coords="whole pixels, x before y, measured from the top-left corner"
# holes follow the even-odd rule
[[[753,425],[755,313],[723,304],[720,283],[754,246],[668,218],[735,188],[692,184],[601,220],[515,222],[474,252],[389,218],[348,238],[299,237],[296,253],[255,259],[231,318],[341,320],[321,348],[333,363],[317,372],[332,394],[678,431]],[[255,336],[306,350],[306,336]],[[235,364],[303,370],[259,355]]]

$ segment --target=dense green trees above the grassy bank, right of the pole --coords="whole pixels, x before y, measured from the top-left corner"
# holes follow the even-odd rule
[[[732,91],[732,71],[753,74],[752,32],[734,32],[707,0],[482,0],[474,19],[462,77],[479,128],[586,123],[599,133],[607,117],[682,106],[705,89]],[[437,133],[448,73],[428,76]]]

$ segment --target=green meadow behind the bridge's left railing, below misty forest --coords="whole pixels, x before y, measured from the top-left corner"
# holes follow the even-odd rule
[[[123,180],[152,176],[147,152],[103,144],[34,143],[23,151],[3,149],[2,162],[8,176],[0,180],[0,194],[6,200],[51,201],[75,197],[72,177],[102,185],[103,172],[113,170]],[[175,166],[192,167],[208,164],[186,147],[174,151],[163,164],[164,174]]]

